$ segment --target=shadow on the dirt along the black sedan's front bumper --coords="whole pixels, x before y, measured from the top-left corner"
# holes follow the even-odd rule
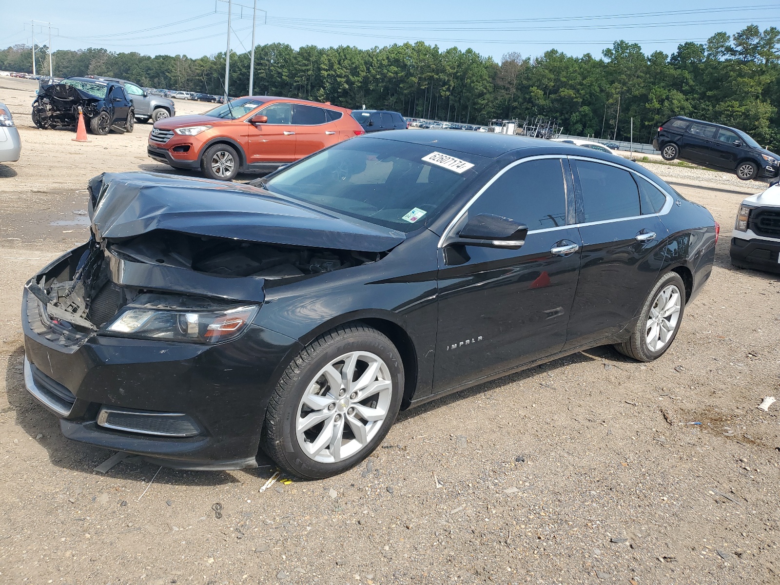
[[[9,355],[5,371],[5,388],[10,410],[16,414],[16,424],[27,434],[24,441],[37,441],[43,447],[52,466],[70,472],[92,475],[94,467],[111,457],[114,452],[100,447],[84,445],[65,438],[59,430],[58,418],[34,399],[24,387],[24,348],[19,346]],[[20,438],[20,442],[22,439]],[[28,456],[30,454],[28,453]],[[30,456],[32,457],[32,456]],[[261,461],[261,463],[266,463]],[[141,481],[158,470],[158,465],[139,461],[119,463],[106,474],[119,480]],[[265,478],[271,467],[245,470],[253,477]],[[240,483],[240,479],[224,471],[185,471],[163,467],[154,481],[162,484],[190,486],[219,486]]]

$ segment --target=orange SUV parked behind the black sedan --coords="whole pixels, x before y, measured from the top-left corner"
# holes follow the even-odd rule
[[[229,181],[270,172],[363,134],[352,110],[285,97],[239,97],[200,115],[154,122],[147,153],[175,168]]]

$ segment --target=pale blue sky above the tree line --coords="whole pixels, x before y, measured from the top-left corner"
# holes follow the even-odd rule
[[[243,52],[251,46],[252,5],[253,0],[233,2],[233,50]],[[73,0],[4,0],[0,47],[30,44],[30,19],[34,18],[51,21],[56,27],[58,35],[51,43],[55,50],[105,47],[190,57],[225,50],[228,5],[222,0],[132,0],[87,6]],[[601,55],[603,48],[618,39],[640,42],[645,52],[670,53],[683,41],[704,42],[720,30],[732,34],[750,23],[762,29],[780,26],[780,4],[761,0],[748,0],[746,5],[725,0],[262,0],[257,8],[257,20],[262,23],[257,27],[257,44],[370,48],[421,40],[440,48],[473,48],[497,60],[509,51],[534,56],[549,48],[570,55]],[[259,9],[267,10],[267,16]],[[46,43],[48,31],[41,34],[36,27],[35,34],[38,44]]]

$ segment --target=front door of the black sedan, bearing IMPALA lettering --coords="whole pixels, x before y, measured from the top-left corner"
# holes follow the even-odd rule
[[[580,236],[567,226],[573,199],[564,167],[568,172],[562,158],[521,161],[469,207],[472,216],[527,225],[519,250],[439,250],[434,392],[562,349],[580,269]]]

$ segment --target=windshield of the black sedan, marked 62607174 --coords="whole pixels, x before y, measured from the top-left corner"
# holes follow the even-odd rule
[[[434,158],[438,164],[423,160],[435,153],[441,154]],[[473,166],[463,172],[441,166],[463,161]],[[265,183],[265,189],[411,232],[420,225],[430,225],[490,161],[442,148],[361,137],[282,170]]]

